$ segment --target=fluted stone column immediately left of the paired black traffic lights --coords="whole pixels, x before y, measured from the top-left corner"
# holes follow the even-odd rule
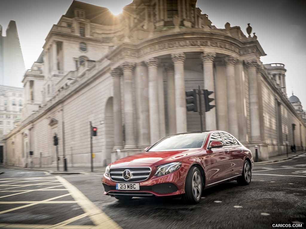
[[[173,53],[174,89],[175,89],[175,116],[177,133],[187,132],[187,110],[185,100],[184,53]]]

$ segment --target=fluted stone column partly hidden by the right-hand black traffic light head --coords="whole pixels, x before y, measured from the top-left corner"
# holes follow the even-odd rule
[[[214,59],[216,53],[204,52],[201,55],[203,61],[203,75],[204,75],[204,89],[213,91],[209,97],[215,99],[215,81],[214,81]],[[215,100],[213,100],[211,105],[215,105]],[[205,112],[205,126],[207,130],[217,129],[216,120],[216,108],[212,108],[210,111]]]

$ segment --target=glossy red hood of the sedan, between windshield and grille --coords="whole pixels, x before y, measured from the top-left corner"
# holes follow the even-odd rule
[[[180,161],[182,158],[185,158],[188,155],[195,154],[200,151],[201,148],[142,152],[125,158],[121,158],[111,163],[111,167],[114,168],[114,167],[140,166],[140,165],[159,166],[170,162]]]

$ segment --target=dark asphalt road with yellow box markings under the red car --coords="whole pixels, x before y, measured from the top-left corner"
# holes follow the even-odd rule
[[[6,169],[0,175],[0,228],[306,228],[305,154],[256,165],[250,185],[212,187],[197,205],[168,198],[121,203],[102,194],[101,180],[101,174]]]

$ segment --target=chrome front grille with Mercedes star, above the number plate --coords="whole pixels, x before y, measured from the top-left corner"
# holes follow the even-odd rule
[[[127,167],[110,169],[110,178],[118,182],[139,182],[150,176],[150,167]]]

